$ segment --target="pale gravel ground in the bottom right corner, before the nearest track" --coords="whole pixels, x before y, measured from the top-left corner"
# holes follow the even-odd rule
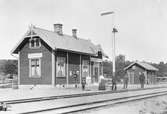
[[[167,96],[99,108],[82,114],[167,114]]]

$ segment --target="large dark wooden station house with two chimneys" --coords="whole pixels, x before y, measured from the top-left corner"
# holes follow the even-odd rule
[[[76,29],[64,34],[62,24],[54,24],[54,31],[32,26],[12,54],[18,54],[19,84],[98,83],[103,75],[101,46],[79,38]]]

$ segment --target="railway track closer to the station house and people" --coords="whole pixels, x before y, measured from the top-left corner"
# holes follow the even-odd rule
[[[128,91],[141,91],[141,90],[149,90],[149,89],[160,89],[160,88],[167,88],[167,87],[164,86],[164,87],[153,87],[153,88],[131,89],[131,90],[118,90],[118,91],[98,91],[98,92],[90,92],[90,93],[82,93],[82,94],[48,96],[48,97],[18,99],[18,100],[5,100],[5,101],[0,101],[0,102],[5,102],[7,104],[19,104],[19,103],[28,103],[28,102],[39,102],[39,101],[47,101],[47,100],[65,99],[65,98],[85,97],[85,96],[93,96],[93,95],[101,95],[101,94],[122,93],[122,92],[128,92]]]

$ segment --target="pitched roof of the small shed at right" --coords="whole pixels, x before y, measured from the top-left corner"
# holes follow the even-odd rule
[[[139,65],[141,67],[143,67],[144,69],[146,70],[150,70],[150,71],[158,71],[157,68],[155,68],[154,66],[148,64],[148,63],[145,63],[145,62],[134,62],[132,64],[130,64],[129,66],[125,67],[124,70],[128,70],[129,68],[131,68],[133,65]]]

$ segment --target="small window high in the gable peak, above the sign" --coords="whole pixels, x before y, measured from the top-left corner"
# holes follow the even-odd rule
[[[30,48],[39,48],[41,46],[41,42],[39,38],[30,38],[29,47]]]

